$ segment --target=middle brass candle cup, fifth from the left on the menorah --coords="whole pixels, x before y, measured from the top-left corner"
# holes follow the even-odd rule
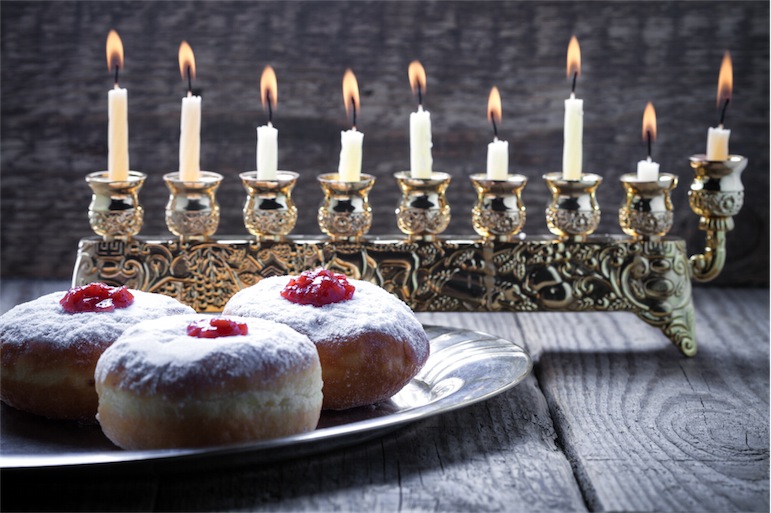
[[[396,208],[396,224],[410,240],[434,240],[450,224],[450,205],[445,191],[451,176],[431,173],[431,178],[412,178],[409,171],[394,175],[402,198]]]

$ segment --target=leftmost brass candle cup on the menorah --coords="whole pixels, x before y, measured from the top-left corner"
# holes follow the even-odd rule
[[[104,240],[128,240],[142,228],[144,209],[139,204],[139,189],[147,175],[129,171],[126,180],[110,180],[107,171],[86,176],[93,191],[88,206],[91,229]]]

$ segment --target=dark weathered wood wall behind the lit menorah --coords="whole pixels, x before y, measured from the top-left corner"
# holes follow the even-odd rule
[[[689,252],[703,234],[690,212],[688,157],[705,151],[717,123],[723,52],[734,59],[731,150],[747,156],[745,206],[728,236],[728,264],[716,283],[768,284],[769,4],[759,2],[11,2],[2,16],[2,266],[4,277],[68,277],[77,241],[92,232],[86,174],[106,168],[112,86],[104,43],[123,39],[132,169],[149,175],[143,235],[168,234],[162,175],[178,166],[180,79],[186,39],[203,96],[202,168],[225,175],[220,234],[246,234],[238,173],[255,167],[262,68],[279,81],[274,122],[279,167],[298,171],[295,233],[319,234],[315,176],[337,169],[348,128],[340,83],[345,68],[362,91],[364,171],[377,177],[371,234],[397,233],[394,172],[408,167],[408,116],[415,109],[407,66],[428,73],[434,169],[453,176],[448,234],[473,235],[468,175],[483,172],[491,129],[487,93],[501,90],[501,136],[511,170],[528,176],[528,233],[546,233],[541,179],[561,169],[568,40],[581,44],[584,170],[603,175],[601,231],[620,233],[618,177],[645,156],[642,112],[652,101],[654,157],[679,175],[676,226]]]

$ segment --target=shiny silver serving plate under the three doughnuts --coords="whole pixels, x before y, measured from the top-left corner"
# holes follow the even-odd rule
[[[125,469],[173,465],[232,466],[307,456],[350,446],[410,422],[488,399],[520,381],[532,360],[518,345],[476,331],[426,326],[431,356],[420,373],[390,401],[345,411],[324,411],[310,433],[247,444],[152,451],[123,451],[98,425],[52,421],[3,404],[0,468]]]

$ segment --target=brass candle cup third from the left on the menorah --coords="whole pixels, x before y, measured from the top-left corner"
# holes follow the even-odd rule
[[[275,180],[261,180],[257,171],[241,173],[246,189],[244,225],[260,240],[280,240],[294,228],[297,207],[292,201],[292,189],[300,175],[278,171]]]

